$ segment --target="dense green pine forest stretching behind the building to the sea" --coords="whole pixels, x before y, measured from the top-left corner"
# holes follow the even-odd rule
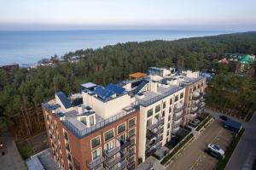
[[[0,129],[9,128],[15,139],[44,131],[41,103],[53,98],[59,90],[67,94],[78,92],[82,82],[102,85],[119,82],[131,72],[145,72],[149,66],[177,67],[180,60],[183,61],[183,69],[211,71],[225,53],[256,54],[256,32],[176,41],[118,43],[104,48],[80,49],[63,56],[64,59],[79,56],[77,63],[56,60],[55,65],[39,66],[36,69],[0,69]],[[223,85],[225,79],[228,79],[228,86]],[[233,82],[236,86],[233,86]],[[221,105],[233,105],[245,98],[250,101],[253,99],[252,94],[254,98],[256,96],[255,83],[247,77],[234,78],[221,70],[213,83],[214,87],[221,85],[216,88],[219,90],[218,97],[224,88],[236,94],[244,93],[232,102],[230,98],[223,99]],[[234,88],[240,85],[242,87],[239,89]],[[214,99],[218,100],[216,96],[212,98],[213,102]],[[250,105],[255,105],[254,101],[249,102]]]

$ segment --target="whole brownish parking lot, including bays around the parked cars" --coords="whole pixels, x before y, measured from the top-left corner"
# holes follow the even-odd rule
[[[204,153],[207,144],[218,144],[226,150],[233,135],[222,127],[222,122],[214,120],[166,169],[214,169],[218,160]]]

